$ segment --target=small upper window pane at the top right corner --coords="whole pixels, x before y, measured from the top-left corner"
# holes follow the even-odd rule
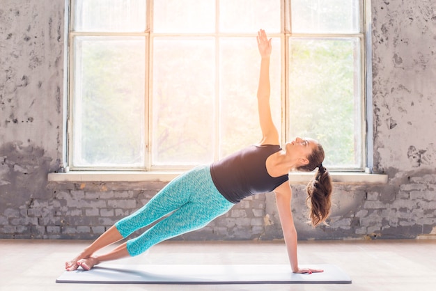
[[[291,1],[293,33],[359,33],[359,0]]]

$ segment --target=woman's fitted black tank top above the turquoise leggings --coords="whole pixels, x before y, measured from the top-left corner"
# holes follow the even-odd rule
[[[249,146],[210,165],[215,187],[231,203],[270,192],[288,181],[288,175],[273,178],[267,173],[267,157],[281,150],[278,145]]]

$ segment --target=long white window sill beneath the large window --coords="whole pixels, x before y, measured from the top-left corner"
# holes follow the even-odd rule
[[[118,171],[70,171],[68,173],[49,173],[49,182],[169,182],[183,173],[182,171],[118,172]],[[332,172],[333,182],[386,184],[387,175]],[[290,173],[291,183],[307,183],[313,173]]]

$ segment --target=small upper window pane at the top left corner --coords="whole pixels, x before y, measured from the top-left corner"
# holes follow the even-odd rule
[[[144,0],[76,0],[74,15],[75,31],[146,30]]]

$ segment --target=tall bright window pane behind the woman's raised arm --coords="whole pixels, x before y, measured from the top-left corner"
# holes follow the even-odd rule
[[[271,107],[280,132],[280,43],[274,39],[270,62]],[[253,37],[220,41],[220,157],[260,141],[257,88],[260,56]]]

